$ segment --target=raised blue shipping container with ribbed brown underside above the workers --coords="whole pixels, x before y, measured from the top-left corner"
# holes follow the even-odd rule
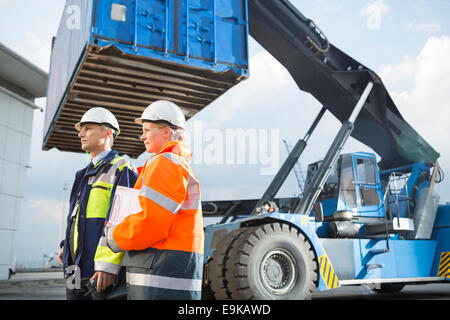
[[[248,73],[247,0],[68,0],[54,39],[43,149],[80,152],[73,125],[111,110],[115,148],[144,151],[133,119],[158,99],[190,118]]]

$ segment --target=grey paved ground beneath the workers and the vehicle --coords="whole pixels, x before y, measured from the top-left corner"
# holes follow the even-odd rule
[[[0,281],[0,300],[65,300],[62,272],[17,273]],[[378,294],[367,286],[316,292],[313,300],[450,300],[450,283],[409,285],[401,292]]]

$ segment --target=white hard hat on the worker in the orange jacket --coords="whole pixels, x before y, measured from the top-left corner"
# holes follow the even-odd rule
[[[167,121],[171,125],[184,129],[186,118],[183,111],[173,102],[167,100],[158,100],[145,108],[142,116],[134,121],[142,124],[143,120],[148,121]]]

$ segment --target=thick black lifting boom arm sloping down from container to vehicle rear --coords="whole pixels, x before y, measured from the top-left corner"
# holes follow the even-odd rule
[[[351,135],[378,153],[382,169],[436,162],[439,154],[403,119],[379,77],[330,44],[288,0],[248,6],[250,35],[342,123],[367,83],[376,82]]]

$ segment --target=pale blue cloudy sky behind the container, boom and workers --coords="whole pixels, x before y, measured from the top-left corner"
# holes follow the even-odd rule
[[[48,72],[51,40],[64,3],[0,0],[0,42]],[[440,165],[450,177],[450,0],[292,3],[319,26],[334,46],[381,76],[405,120],[440,153]],[[250,78],[188,122],[188,130],[197,132],[191,139],[192,168],[200,180],[203,200],[261,196],[287,156],[282,140],[295,144],[321,108],[253,39],[249,54]],[[44,109],[45,103],[45,98],[36,100]],[[16,259],[21,264],[38,264],[44,253],[57,251],[65,228],[61,222],[67,214],[70,184],[75,172],[88,161],[85,154],[41,150],[44,115],[45,111],[34,115],[31,168],[16,238]],[[339,127],[333,116],[324,116],[302,155],[303,169],[323,157]],[[255,136],[256,147],[227,150],[226,137],[239,130]],[[222,147],[217,148],[217,143]],[[356,151],[372,152],[350,138],[344,152]],[[236,158],[227,159],[230,152]],[[131,161],[141,166],[148,156],[143,154]],[[436,186],[441,203],[450,201],[449,189],[450,178]],[[278,196],[298,193],[291,174]]]

